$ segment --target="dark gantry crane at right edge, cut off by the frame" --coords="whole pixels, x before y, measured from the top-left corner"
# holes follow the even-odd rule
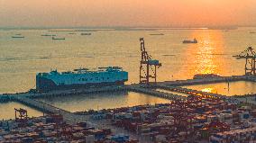
[[[233,57],[236,57],[238,59],[245,58],[245,75],[256,76],[256,52],[251,47],[248,47],[247,49],[243,50],[239,55]]]

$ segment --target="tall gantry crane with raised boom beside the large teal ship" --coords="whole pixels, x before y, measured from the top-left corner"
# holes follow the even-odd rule
[[[145,49],[145,42],[143,38],[141,41],[141,67],[140,67],[140,84],[150,85],[151,79],[154,80],[154,84],[157,82],[157,67],[161,66],[159,60],[151,59],[151,55]]]

